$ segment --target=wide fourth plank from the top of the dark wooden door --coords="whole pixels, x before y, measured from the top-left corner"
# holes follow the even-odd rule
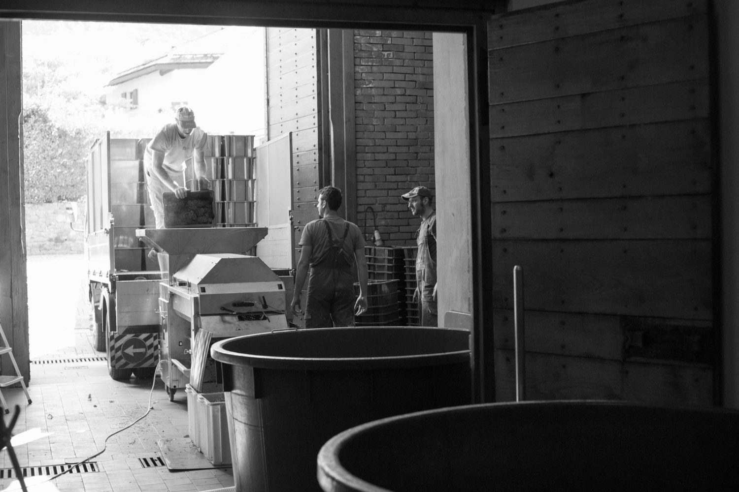
[[[491,142],[494,201],[709,193],[708,119]]]

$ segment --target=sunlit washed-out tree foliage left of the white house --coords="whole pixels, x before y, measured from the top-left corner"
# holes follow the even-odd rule
[[[116,117],[102,97],[117,72],[158,56],[173,41],[217,28],[75,21],[23,22],[24,181],[27,203],[86,195],[95,138],[147,135],[150,121]],[[175,41],[177,42],[177,41]]]

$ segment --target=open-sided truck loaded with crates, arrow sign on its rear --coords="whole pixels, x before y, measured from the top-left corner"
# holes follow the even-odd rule
[[[183,225],[176,235],[177,247],[188,238],[198,243],[213,243],[214,238],[223,235],[213,229],[260,225],[263,232],[259,238],[263,239],[259,246],[250,244],[249,253],[259,256],[257,263],[264,263],[279,278],[287,300],[287,296],[292,296],[295,270],[295,231],[290,212],[291,136],[286,134],[256,148],[253,136],[209,135],[208,138],[206,164],[214,197],[214,224],[205,230],[187,229]],[[147,236],[155,239],[163,236],[146,232],[155,229],[143,168],[148,142],[148,139],[111,138],[110,132],[106,132],[93,143],[87,162],[85,254],[94,319],[92,340],[96,350],[106,353],[108,372],[115,380],[126,380],[132,374],[137,378],[153,377],[160,362],[160,350],[164,347],[166,353],[172,351],[163,342],[171,339],[167,331],[172,323],[171,309],[167,306],[173,289],[169,283],[177,271],[170,271],[162,260],[171,254],[180,257],[182,252],[164,252],[159,257],[149,255],[151,246],[157,243],[151,243]],[[256,165],[259,156],[262,156],[261,167]],[[187,178],[194,181],[193,176]],[[256,207],[257,196],[260,207]],[[234,245],[235,249],[239,247]],[[292,322],[289,310],[285,311],[286,321]],[[199,314],[194,314],[197,315],[194,319],[199,319]],[[178,356],[172,359],[177,367],[183,367],[185,356],[190,356],[194,348],[191,335],[194,331],[177,339]],[[172,364],[166,362],[163,367]],[[186,368],[180,371],[182,375],[187,372]],[[163,369],[164,373],[177,371]],[[168,394],[171,389],[174,395],[183,381],[183,378],[170,381],[167,377]]]

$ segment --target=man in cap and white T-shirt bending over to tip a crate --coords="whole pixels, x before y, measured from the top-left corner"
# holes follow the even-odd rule
[[[205,177],[205,148],[208,134],[195,124],[195,113],[182,106],[174,113],[174,122],[167,123],[146,145],[143,164],[146,187],[149,190],[151,209],[157,229],[164,229],[164,205],[162,193],[174,192],[177,198],[185,198],[185,162],[192,158],[195,177],[200,190],[208,190],[210,181]]]

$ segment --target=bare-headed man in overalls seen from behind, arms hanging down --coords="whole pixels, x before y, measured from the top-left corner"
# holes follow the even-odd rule
[[[290,308],[296,315],[303,313],[300,295],[307,277],[305,328],[354,326],[355,313],[367,311],[365,241],[358,226],[338,216],[340,206],[341,190],[330,186],[322,188],[316,204],[320,218],[306,224],[300,238],[302,252]],[[359,297],[356,301],[355,264],[359,280]]]

